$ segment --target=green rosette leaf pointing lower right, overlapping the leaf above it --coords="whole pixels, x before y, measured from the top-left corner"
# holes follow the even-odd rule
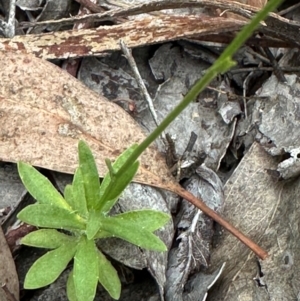
[[[105,217],[101,219],[101,229],[138,247],[154,251],[167,251],[166,245],[159,237],[131,222],[114,217]]]

